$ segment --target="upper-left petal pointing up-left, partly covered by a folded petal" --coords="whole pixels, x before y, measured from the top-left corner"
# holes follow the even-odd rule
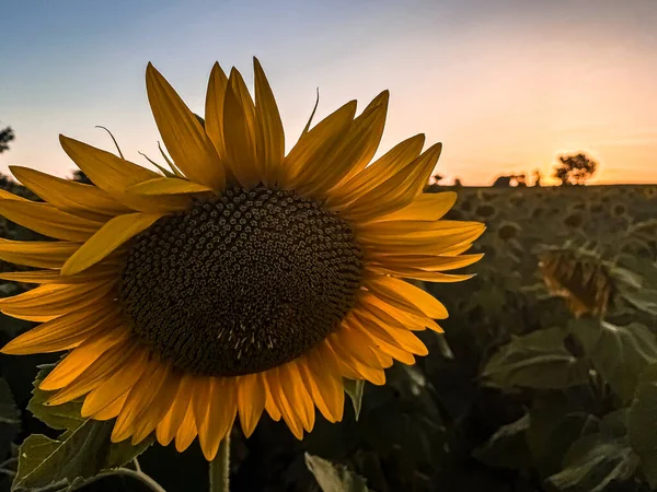
[[[59,142],[68,156],[99,188],[132,210],[147,213],[173,212],[185,210],[192,203],[188,197],[130,194],[127,191],[130,186],[161,176],[78,140],[59,136]]]

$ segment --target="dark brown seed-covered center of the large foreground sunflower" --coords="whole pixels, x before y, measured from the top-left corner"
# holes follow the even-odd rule
[[[281,365],[354,306],[349,224],[293,191],[232,187],[136,236],[119,283],[134,333],[174,366],[237,376]]]

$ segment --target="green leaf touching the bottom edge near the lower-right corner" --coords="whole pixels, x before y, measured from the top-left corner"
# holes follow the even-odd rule
[[[638,457],[627,440],[627,410],[607,415],[600,432],[580,437],[564,457],[564,469],[548,480],[567,492],[602,492],[615,482],[631,479]]]

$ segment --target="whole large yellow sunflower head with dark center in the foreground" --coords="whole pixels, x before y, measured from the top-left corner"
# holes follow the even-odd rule
[[[61,137],[94,185],[13,167],[45,203],[0,200],[60,239],[0,243],[0,258],[41,268],[1,278],[42,284],[0,309],[43,323],[2,352],[69,351],[41,384],[50,405],[84,397],[84,418],[116,418],[114,442],[154,431],[183,450],[198,435],[212,459],[238,413],[246,435],[266,410],[301,438],[315,407],[342,419],[343,378],[381,385],[393,359],[427,353],[413,331],[440,331],[447,311],[401,279],[466,279],[443,271],[480,258],[461,253],[483,225],[439,221],[456,195],[422,194],[441,148],[422,152],[424,136],[368,166],[388,92],[358,117],[347,103],[285,155],[257,60],[255,102],[215,65],[205,120],[151,65],[146,81],[172,172]]]

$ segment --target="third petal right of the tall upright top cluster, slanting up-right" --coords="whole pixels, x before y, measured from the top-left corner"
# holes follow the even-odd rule
[[[346,183],[341,183],[330,190],[326,206],[341,210],[358,197],[361,197],[384,183],[387,179],[390,179],[417,159],[424,145],[424,134],[416,134],[415,137],[411,137],[410,139],[397,143],[353,178]]]

